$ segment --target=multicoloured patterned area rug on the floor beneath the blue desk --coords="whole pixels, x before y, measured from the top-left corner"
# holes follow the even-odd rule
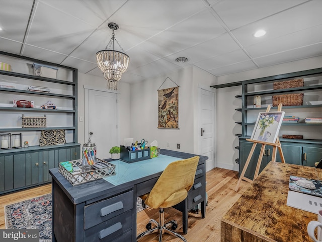
[[[136,211],[142,211],[137,198]],[[51,242],[51,194],[5,206],[6,228],[39,229],[39,242]]]

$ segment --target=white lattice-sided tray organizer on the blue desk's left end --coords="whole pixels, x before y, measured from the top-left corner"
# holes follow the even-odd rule
[[[72,160],[69,161],[72,166],[72,170],[69,167],[64,167],[60,162],[58,164],[58,171],[69,181],[72,186],[76,186],[83,183],[88,183],[89,181],[102,179],[108,175],[115,175],[115,165],[96,158],[99,161],[99,164],[104,163],[106,167],[104,168],[97,168],[92,166],[90,170],[84,171],[82,170],[82,160]],[[78,167],[78,168],[77,168]]]

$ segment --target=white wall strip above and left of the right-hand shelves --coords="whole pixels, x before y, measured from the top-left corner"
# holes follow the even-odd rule
[[[291,63],[221,76],[217,78],[216,84],[321,68],[321,63],[322,56],[307,58]],[[241,113],[234,109],[241,108],[241,100],[234,96],[239,94],[241,94],[241,86],[217,89],[217,167],[232,170],[238,170],[238,165],[234,161],[238,158],[238,151],[234,149],[238,145],[238,139],[234,134],[238,133],[239,129],[241,132],[241,127],[234,122],[241,120]]]

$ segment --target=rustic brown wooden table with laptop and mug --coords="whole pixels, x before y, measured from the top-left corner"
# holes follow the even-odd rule
[[[270,162],[222,217],[221,242],[312,241],[306,227],[317,215],[286,205],[289,176],[317,179],[321,170]]]

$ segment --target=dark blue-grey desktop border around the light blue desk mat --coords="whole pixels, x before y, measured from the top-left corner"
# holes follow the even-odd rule
[[[195,154],[166,150],[166,149],[162,149],[160,153],[168,156],[182,158],[182,159],[187,159],[195,156]],[[199,163],[204,163],[205,160],[207,159],[208,159],[207,156],[200,156]],[[52,178],[56,181],[58,186],[64,191],[66,196],[70,199],[70,201],[73,204],[79,204],[82,202],[91,203],[93,202],[92,199],[97,200],[97,199],[100,199],[101,196],[106,197],[106,195],[114,194],[118,190],[126,190],[127,188],[130,189],[131,187],[133,187],[133,183],[135,184],[141,183],[147,179],[158,177],[162,173],[162,172],[158,172],[152,175],[139,178],[135,181],[129,181],[128,183],[121,184],[118,186],[114,186],[113,184],[109,183],[104,179],[99,179],[96,181],[91,181],[89,183],[73,187],[68,182],[68,180],[65,179],[65,177],[63,177],[59,173],[58,168],[50,169],[49,172]]]

